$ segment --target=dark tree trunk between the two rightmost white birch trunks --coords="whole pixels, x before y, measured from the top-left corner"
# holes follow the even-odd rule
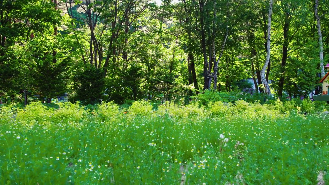
[[[285,17],[285,24],[283,27],[283,45],[282,45],[282,60],[281,60],[281,78],[279,81],[279,87],[278,87],[278,95],[282,97],[283,94],[283,86],[284,86],[284,80],[285,80],[285,71],[286,71],[286,63],[288,58],[288,33],[289,33],[289,13],[286,13]]]

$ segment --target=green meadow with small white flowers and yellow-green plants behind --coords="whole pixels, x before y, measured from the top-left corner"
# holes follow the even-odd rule
[[[0,184],[316,184],[329,168],[329,119],[281,109],[1,106]]]

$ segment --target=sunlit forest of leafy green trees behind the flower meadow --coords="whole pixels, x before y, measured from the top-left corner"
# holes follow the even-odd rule
[[[316,95],[328,13],[326,0],[1,0],[1,103]]]

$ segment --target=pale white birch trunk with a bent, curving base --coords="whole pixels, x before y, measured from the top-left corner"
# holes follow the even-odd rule
[[[273,9],[273,0],[269,1],[269,10],[268,10],[268,23],[267,23],[267,47],[266,47],[266,61],[265,64],[261,70],[261,79],[262,83],[264,84],[264,90],[267,95],[271,94],[271,91],[269,89],[268,83],[265,78],[265,71],[269,63],[269,57],[271,52],[271,18],[272,18],[272,9]]]

